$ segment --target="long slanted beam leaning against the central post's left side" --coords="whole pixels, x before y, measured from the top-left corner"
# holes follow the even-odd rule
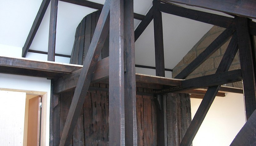
[[[84,66],[81,70],[81,75],[79,76],[75,93],[72,99],[70,109],[68,111],[66,123],[62,132],[62,137],[60,140],[60,146],[69,144],[70,139],[79,117],[81,108],[89,89],[91,79],[93,76],[93,71],[98,61],[101,48],[103,47],[104,41],[109,30],[109,0],[106,0],[105,5],[102,9],[101,16],[97,23],[91,45],[89,47],[88,53],[85,58]]]

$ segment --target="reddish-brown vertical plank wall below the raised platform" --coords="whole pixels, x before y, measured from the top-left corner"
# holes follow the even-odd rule
[[[92,84],[85,98],[70,146],[109,145],[109,93],[108,84]],[[139,146],[156,146],[157,108],[159,103],[149,89],[137,88],[137,142]],[[71,105],[74,91],[60,94],[53,118],[53,145],[58,145]],[[191,108],[188,94],[165,94],[168,146],[178,146],[190,121]],[[57,126],[57,127],[56,127]],[[59,127],[58,127],[59,126]],[[57,131],[59,130],[59,131]],[[59,132],[59,133],[58,133]]]

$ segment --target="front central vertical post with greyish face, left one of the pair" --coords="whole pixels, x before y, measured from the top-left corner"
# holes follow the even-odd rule
[[[109,145],[125,145],[124,3],[111,0],[109,30]]]

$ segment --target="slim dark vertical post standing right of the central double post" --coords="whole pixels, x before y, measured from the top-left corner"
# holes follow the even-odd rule
[[[153,1],[154,7],[154,38],[155,38],[155,75],[165,76],[165,57],[162,13],[158,11],[158,0]],[[159,95],[160,113],[157,114],[157,145],[167,145],[166,97]]]

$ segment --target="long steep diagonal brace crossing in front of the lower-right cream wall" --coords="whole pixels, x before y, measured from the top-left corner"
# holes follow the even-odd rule
[[[216,74],[221,72],[226,72],[229,70],[231,63],[233,62],[234,56],[237,52],[237,42],[236,33],[233,35],[229,42],[229,45],[223,55],[223,58],[219,64]],[[184,137],[181,140],[180,146],[188,146],[192,144],[192,141],[199,130],[204,118],[209,111],[211,104],[214,101],[216,94],[219,91],[221,85],[211,86],[207,89],[202,102],[200,103],[198,110],[195,113],[193,120],[190,123],[188,130],[186,131]]]

